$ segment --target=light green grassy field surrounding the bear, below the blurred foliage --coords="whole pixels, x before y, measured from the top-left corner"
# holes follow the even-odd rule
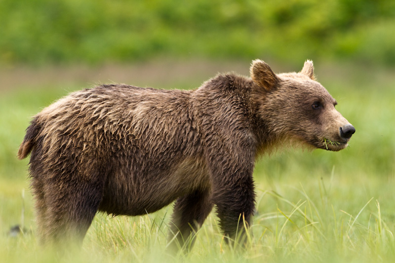
[[[395,76],[390,71],[354,65],[317,65],[316,75],[337,99],[337,109],[356,127],[356,134],[350,147],[340,152],[289,149],[257,162],[257,212],[246,251],[225,245],[212,213],[199,230],[189,255],[168,255],[169,206],[143,217],[110,218],[98,214],[82,251],[70,252],[64,261],[393,261]],[[197,87],[205,80],[198,75],[189,77],[178,78],[174,85],[166,87]],[[158,79],[151,85],[161,87],[159,83]],[[18,161],[15,155],[32,115],[68,92],[86,86],[89,84],[25,84],[0,91],[1,262],[56,261],[56,251],[37,244],[28,161]],[[27,233],[9,236],[8,229],[16,224],[23,225]]]

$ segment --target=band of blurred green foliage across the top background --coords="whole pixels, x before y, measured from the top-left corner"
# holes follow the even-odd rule
[[[0,65],[154,56],[395,65],[393,0],[0,0]]]

